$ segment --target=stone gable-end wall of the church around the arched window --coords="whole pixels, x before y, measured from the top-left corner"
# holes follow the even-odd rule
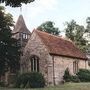
[[[50,63],[52,64],[52,58],[48,53],[47,47],[44,45],[43,41],[36,33],[33,33],[31,35],[31,38],[24,49],[21,60],[21,72],[31,71],[30,57],[32,55],[36,55],[39,57],[39,71],[44,75],[46,82],[48,82],[48,60],[50,60]],[[52,81],[52,65],[49,69],[51,71],[49,73],[49,78]]]

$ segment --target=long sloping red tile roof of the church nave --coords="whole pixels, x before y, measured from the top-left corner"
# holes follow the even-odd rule
[[[48,47],[50,54],[87,59],[86,55],[81,50],[79,50],[70,40],[66,40],[60,36],[54,36],[39,30],[35,30],[35,32]]]

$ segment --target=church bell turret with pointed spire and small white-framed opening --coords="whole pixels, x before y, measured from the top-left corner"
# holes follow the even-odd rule
[[[19,16],[12,34],[13,38],[18,40],[19,45],[21,47],[25,47],[31,35],[31,32],[27,29],[22,15]]]

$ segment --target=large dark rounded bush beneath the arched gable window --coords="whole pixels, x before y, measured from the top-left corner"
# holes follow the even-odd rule
[[[41,88],[45,86],[45,79],[41,73],[24,73],[17,77],[15,87],[18,88]]]

